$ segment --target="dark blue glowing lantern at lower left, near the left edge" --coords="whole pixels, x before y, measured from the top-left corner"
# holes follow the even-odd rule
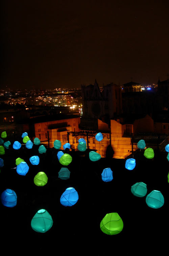
[[[14,207],[17,205],[17,195],[12,189],[5,189],[1,194],[1,202],[6,207]]]

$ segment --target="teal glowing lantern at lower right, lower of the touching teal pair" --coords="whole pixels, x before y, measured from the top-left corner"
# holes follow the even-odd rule
[[[158,190],[153,190],[146,196],[146,204],[154,209],[158,209],[164,205],[164,196]]]

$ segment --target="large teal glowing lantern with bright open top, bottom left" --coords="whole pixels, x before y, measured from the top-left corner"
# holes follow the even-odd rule
[[[45,233],[53,225],[51,215],[45,209],[39,210],[31,220],[31,227],[34,231]]]

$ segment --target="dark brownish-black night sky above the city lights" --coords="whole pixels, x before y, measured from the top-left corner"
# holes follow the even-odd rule
[[[1,5],[1,88],[167,79],[166,0],[7,0]]]

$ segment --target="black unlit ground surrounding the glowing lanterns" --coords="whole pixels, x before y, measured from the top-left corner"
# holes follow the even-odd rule
[[[39,253],[48,255],[138,255],[162,251],[168,248],[168,171],[167,152],[155,152],[153,159],[146,159],[143,151],[135,156],[136,167],[125,169],[124,159],[101,158],[91,162],[88,153],[70,151],[72,163],[67,166],[70,179],[61,180],[58,172],[63,167],[57,159],[57,150],[47,149],[39,154],[39,146],[32,149],[22,146],[20,150],[5,150],[4,167],[1,168],[1,193],[13,189],[17,194],[17,206],[8,208],[1,204],[1,249],[6,253]],[[40,164],[33,166],[29,157],[39,155]],[[29,165],[26,176],[18,175],[15,160],[21,157]],[[103,182],[104,168],[113,171],[113,180]],[[37,187],[34,176],[44,171],[48,183]],[[147,194],[160,190],[164,206],[149,208],[145,198],[134,196],[130,189],[137,182],[147,184]],[[74,187],[79,200],[72,207],[60,204],[60,197],[68,187]],[[31,219],[40,210],[46,209],[53,219],[52,228],[46,233],[37,233],[31,228]],[[120,234],[106,235],[100,230],[100,221],[106,213],[117,212],[123,220]]]

